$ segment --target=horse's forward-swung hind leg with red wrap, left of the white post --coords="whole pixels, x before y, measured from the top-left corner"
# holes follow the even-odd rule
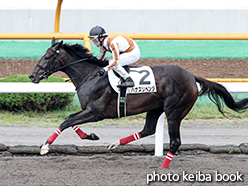
[[[156,125],[159,116],[163,113],[163,108],[154,109],[151,111],[148,111],[146,114],[146,124],[141,132],[137,132],[135,134],[132,134],[131,136],[125,137],[120,139],[117,142],[112,143],[108,149],[112,150],[117,148],[119,145],[125,145],[127,143],[130,143],[132,141],[138,140],[140,138],[144,138],[146,136],[152,135],[155,133]]]

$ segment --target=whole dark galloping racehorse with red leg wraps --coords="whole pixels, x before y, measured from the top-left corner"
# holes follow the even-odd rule
[[[47,139],[41,148],[41,154],[49,151],[49,145],[68,127],[73,127],[82,139],[97,140],[95,134],[87,135],[76,125],[96,122],[105,118],[117,118],[117,93],[111,88],[108,75],[98,77],[96,73],[106,66],[105,61],[93,57],[89,51],[79,44],[55,43],[48,48],[38,64],[29,75],[33,83],[39,83],[54,72],[66,73],[76,87],[82,110],[65,120]],[[175,66],[152,66],[157,91],[153,93],[129,94],[126,99],[126,115],[146,114],[146,123],[142,131],[112,143],[109,149],[117,148],[131,141],[155,133],[159,116],[165,112],[170,148],[161,168],[167,168],[173,155],[181,145],[180,123],[189,113],[198,96],[208,94],[218,110],[224,114],[222,102],[230,109],[241,112],[248,108],[248,99],[236,102],[222,85],[195,77],[188,71]],[[198,91],[197,84],[201,90]]]

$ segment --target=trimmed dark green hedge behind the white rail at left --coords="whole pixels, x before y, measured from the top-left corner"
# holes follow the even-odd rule
[[[13,75],[0,82],[30,82],[28,75]],[[41,82],[64,82],[63,78],[50,76]],[[9,111],[51,111],[62,108],[73,101],[68,93],[1,93],[0,109]]]

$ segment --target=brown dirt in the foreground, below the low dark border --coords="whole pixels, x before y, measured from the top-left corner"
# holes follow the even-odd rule
[[[158,169],[164,157],[124,156],[116,154],[92,156],[60,157],[15,157],[1,158],[0,185],[147,185],[147,174],[152,179],[154,171],[160,175],[150,185],[247,185],[247,155],[175,156],[168,169]],[[211,181],[201,182],[200,177],[189,179],[189,175],[204,174]],[[243,182],[217,182],[216,171],[222,176],[237,174]],[[238,173],[237,173],[238,172]],[[158,182],[158,177],[165,181],[163,174],[178,175],[179,181]],[[183,176],[184,174],[184,176]],[[242,175],[240,175],[242,174]],[[163,175],[161,177],[161,175]],[[174,179],[177,179],[174,176]],[[201,176],[203,179],[203,176]],[[217,177],[220,179],[220,176]],[[239,180],[240,180],[239,179]]]

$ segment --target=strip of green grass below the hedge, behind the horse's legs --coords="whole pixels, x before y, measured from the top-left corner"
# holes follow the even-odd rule
[[[226,116],[228,119],[244,119],[248,117],[248,113],[236,113],[230,109],[225,108]],[[79,106],[69,105],[66,108],[55,110],[52,112],[9,112],[0,111],[0,125],[1,126],[38,126],[38,127],[58,127],[68,116],[72,113],[80,111]],[[145,123],[146,114],[139,114],[135,116],[129,116],[121,119],[106,119],[96,123],[87,123],[92,127],[104,127],[104,126],[143,126]],[[225,125],[226,118],[217,110],[217,107],[213,104],[206,106],[196,104],[190,113],[186,116],[185,121],[197,120],[197,119],[219,119],[221,125]],[[209,122],[210,124],[218,124],[216,121]],[[232,125],[239,124],[237,121],[233,121]]]

